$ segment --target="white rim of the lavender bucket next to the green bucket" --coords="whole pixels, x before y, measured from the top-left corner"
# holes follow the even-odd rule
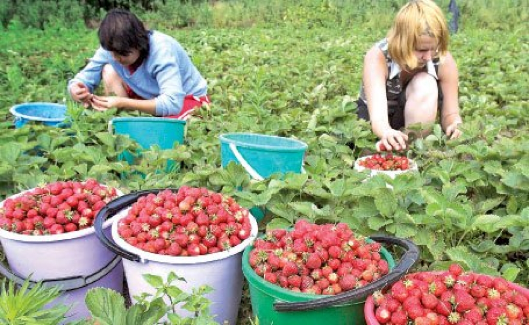
[[[118,235],[117,224],[125,216],[125,213],[129,211],[129,209],[130,207],[125,208],[119,213],[117,213],[116,215],[114,215],[114,217],[111,218],[112,220],[112,240],[116,243],[116,245],[120,246],[124,250],[129,251],[135,255],[138,255],[140,257],[140,263],[157,262],[157,263],[165,263],[165,264],[199,264],[199,263],[214,262],[214,261],[226,259],[227,257],[231,257],[231,256],[234,256],[242,252],[247,246],[253,243],[253,241],[257,238],[257,232],[258,232],[257,221],[252,216],[252,214],[249,213],[250,224],[252,225],[250,236],[246,238],[244,241],[242,241],[239,245],[232,247],[229,250],[225,250],[225,251],[221,251],[221,252],[213,253],[213,254],[198,255],[198,256],[169,256],[169,255],[154,254],[154,253],[140,250],[139,248],[132,246],[131,244],[124,241],[120,235]],[[123,259],[126,260],[125,257],[123,257]]]

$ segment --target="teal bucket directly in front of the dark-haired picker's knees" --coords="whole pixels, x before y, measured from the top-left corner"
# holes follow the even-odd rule
[[[158,117],[117,117],[113,118],[108,125],[111,133],[129,135],[131,139],[138,142],[144,148],[158,145],[160,149],[172,149],[177,144],[184,142],[186,121],[158,118]],[[120,156],[129,164],[134,163],[134,157],[130,152],[123,152]],[[175,161],[167,161],[167,171],[174,170]]]

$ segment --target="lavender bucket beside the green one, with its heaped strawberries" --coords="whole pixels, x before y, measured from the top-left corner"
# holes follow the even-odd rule
[[[101,225],[114,220],[112,237]],[[184,278],[181,290],[201,285],[211,314],[219,323],[235,324],[242,295],[242,251],[257,236],[257,222],[231,197],[206,188],[182,186],[133,192],[107,204],[96,216],[96,234],[111,251],[124,257],[129,294],[154,294],[144,274]],[[192,317],[185,309],[181,316]]]

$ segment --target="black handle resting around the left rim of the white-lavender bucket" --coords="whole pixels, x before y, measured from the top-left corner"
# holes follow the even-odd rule
[[[103,245],[114,252],[115,254],[125,257],[125,259],[132,261],[132,262],[142,262],[144,263],[144,260],[129,251],[124,250],[120,246],[116,245],[113,241],[111,241],[103,232],[103,222],[108,219],[108,217],[114,216],[116,213],[122,211],[124,208],[129,207],[134,202],[136,202],[140,197],[147,196],[148,194],[158,194],[159,192],[163,190],[171,190],[171,191],[177,191],[177,189],[174,188],[163,188],[163,189],[148,189],[148,190],[140,190],[137,192],[131,192],[129,194],[117,197],[113,199],[111,202],[108,202],[104,207],[99,210],[97,213],[95,219],[94,219],[94,228],[96,230],[96,236],[99,238],[99,241],[103,243]]]

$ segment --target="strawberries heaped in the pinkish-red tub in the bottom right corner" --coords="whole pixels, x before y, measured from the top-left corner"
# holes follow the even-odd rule
[[[521,325],[529,323],[529,300],[503,278],[463,272],[406,275],[387,293],[376,292],[375,317],[381,324]]]

